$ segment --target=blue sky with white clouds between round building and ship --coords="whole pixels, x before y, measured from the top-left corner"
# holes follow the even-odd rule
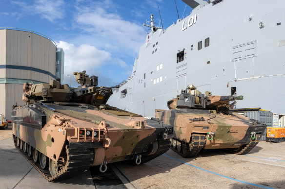
[[[1,0],[0,27],[49,36],[65,52],[64,75],[86,69],[99,85],[113,86],[131,73],[148,32],[145,19],[154,14],[161,25],[157,3],[166,29],[178,19],[174,0]],[[180,17],[189,15],[191,7],[176,3]]]

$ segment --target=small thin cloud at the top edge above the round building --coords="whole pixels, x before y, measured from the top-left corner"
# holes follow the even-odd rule
[[[26,14],[39,14],[42,18],[51,22],[63,17],[63,0],[35,0],[32,4],[24,1],[12,1],[11,3],[19,5]]]

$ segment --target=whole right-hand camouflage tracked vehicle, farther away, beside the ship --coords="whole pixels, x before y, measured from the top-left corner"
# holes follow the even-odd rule
[[[202,149],[228,149],[248,153],[259,142],[266,125],[229,111],[230,101],[243,96],[206,96],[193,85],[167,102],[170,110],[156,110],[156,118],[174,126],[172,150],[183,157]]]

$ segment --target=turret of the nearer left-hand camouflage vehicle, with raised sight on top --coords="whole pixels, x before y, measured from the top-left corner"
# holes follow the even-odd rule
[[[67,84],[50,80],[49,84],[24,84],[23,101],[32,103],[42,102],[65,102],[65,103],[88,103],[95,106],[103,106],[113,94],[112,88],[118,86],[97,86],[98,77],[85,74],[86,71],[74,72],[76,81],[81,85],[79,88],[70,88]]]

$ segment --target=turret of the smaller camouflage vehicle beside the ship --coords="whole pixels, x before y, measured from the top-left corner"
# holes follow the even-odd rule
[[[230,107],[229,102],[234,100],[243,100],[243,96],[217,96],[206,91],[206,95],[202,94],[195,86],[189,85],[185,90],[181,90],[181,94],[175,99],[167,102],[169,109],[208,109],[216,110],[217,113],[228,114]]]

